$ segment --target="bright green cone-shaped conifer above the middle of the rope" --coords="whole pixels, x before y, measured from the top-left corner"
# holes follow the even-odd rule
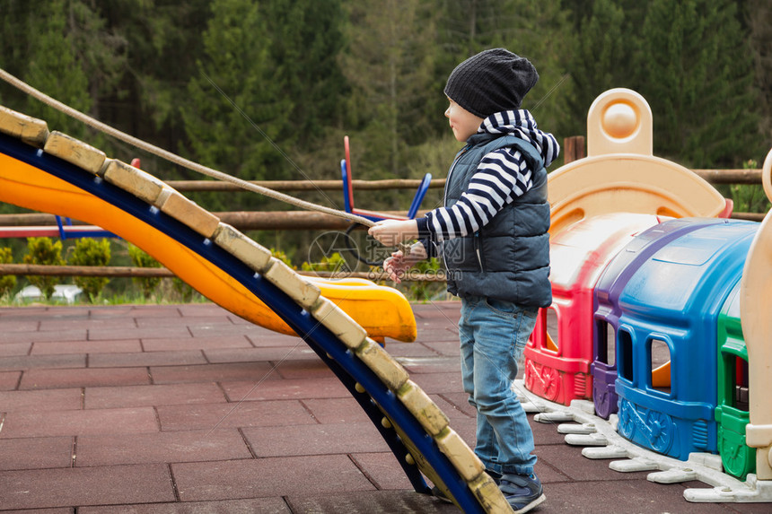
[[[289,164],[277,149],[293,103],[275,80],[267,20],[250,0],[213,0],[211,8],[182,109],[192,157],[241,179],[283,179]]]

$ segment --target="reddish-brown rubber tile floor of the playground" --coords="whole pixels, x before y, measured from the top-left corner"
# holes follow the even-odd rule
[[[386,349],[474,444],[458,302],[415,304]],[[531,414],[530,414],[530,417]],[[689,503],[531,419],[542,513],[770,512]],[[0,512],[458,512],[410,486],[372,423],[299,337],[214,304],[0,309]]]

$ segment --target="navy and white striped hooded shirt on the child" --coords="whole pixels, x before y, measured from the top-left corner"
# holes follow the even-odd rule
[[[560,151],[555,136],[539,130],[524,109],[487,117],[478,133],[514,135],[529,142],[540,152],[545,168]],[[418,220],[419,237],[439,242],[474,233],[532,185],[531,169],[519,150],[506,147],[487,153],[456,204],[434,209]]]

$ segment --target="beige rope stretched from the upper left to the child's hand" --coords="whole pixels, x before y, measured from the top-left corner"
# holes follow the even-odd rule
[[[131,144],[136,148],[145,150],[145,152],[149,152],[154,155],[157,155],[158,157],[161,157],[166,161],[173,162],[174,164],[178,164],[183,168],[196,171],[197,173],[201,173],[213,179],[222,180],[224,182],[231,182],[232,184],[235,184],[236,186],[246,189],[248,191],[259,193],[260,195],[268,196],[269,198],[274,198],[275,200],[279,200],[281,202],[285,202],[286,204],[300,207],[307,211],[317,211],[320,213],[331,214],[333,216],[338,216],[338,218],[344,218],[351,222],[360,223],[366,227],[372,227],[375,224],[374,222],[368,220],[367,218],[364,218],[363,216],[358,216],[356,214],[339,211],[338,209],[331,209],[329,207],[325,207],[324,205],[317,205],[312,202],[306,202],[305,200],[301,200],[300,198],[295,198],[294,196],[285,195],[284,193],[280,193],[268,187],[258,186],[257,184],[251,184],[246,180],[232,177],[231,175],[228,175],[227,173],[224,173],[222,171],[213,170],[212,168],[209,168],[202,164],[198,164],[197,162],[189,161],[184,157],[180,157],[180,155],[177,155],[176,153],[172,153],[162,148],[159,148],[154,144],[146,143],[141,139],[137,139],[133,135],[128,135],[124,132],[121,132],[118,129],[113,128],[112,126],[106,125],[101,121],[94,119],[90,116],[87,116],[82,112],[75,110],[58,100],[54,100],[44,92],[38,91],[28,83],[24,83],[22,80],[14,77],[12,74],[9,74],[3,68],[0,68],[0,78],[2,78],[6,83],[13,85],[13,87],[15,87],[16,89],[19,89],[29,94],[31,97],[37,100],[40,100],[41,102],[45,103],[49,107],[65,113],[70,118],[75,118],[78,121],[81,121],[84,124],[91,126],[92,128],[104,134],[111,135],[112,137],[115,137],[116,139],[123,141],[124,143]]]

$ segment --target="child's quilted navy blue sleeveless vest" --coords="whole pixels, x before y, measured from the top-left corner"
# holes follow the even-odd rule
[[[472,135],[448,173],[445,205],[459,200],[488,152],[507,146],[519,150],[528,161],[533,186],[504,205],[479,231],[443,241],[448,291],[461,297],[476,295],[523,307],[547,307],[552,303],[547,170],[536,148],[513,135]]]

